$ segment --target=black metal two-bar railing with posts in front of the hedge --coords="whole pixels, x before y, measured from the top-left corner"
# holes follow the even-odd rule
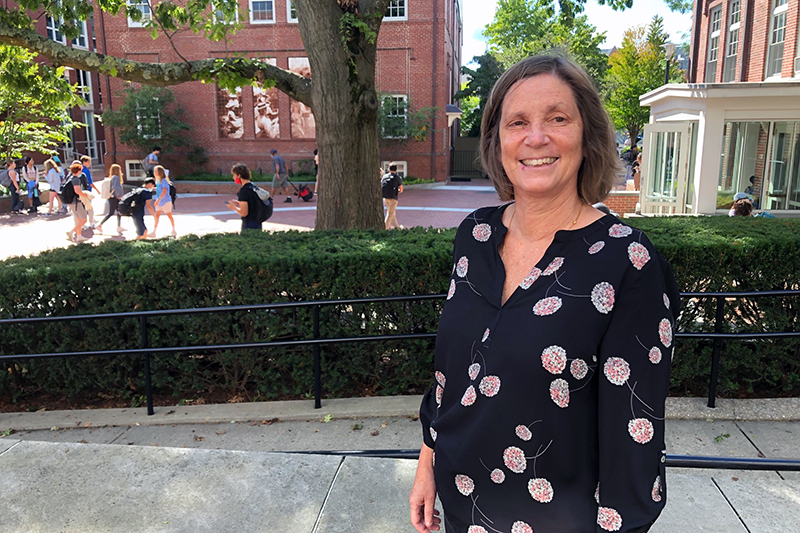
[[[684,299],[707,299],[714,298],[716,300],[716,313],[714,332],[676,332],[676,339],[711,339],[713,340],[713,351],[711,357],[711,376],[709,380],[709,394],[708,406],[716,406],[716,391],[717,382],[719,380],[719,366],[720,356],[722,353],[723,341],[726,339],[770,339],[770,338],[788,338],[800,337],[800,332],[763,332],[763,333],[725,333],[723,328],[725,326],[725,301],[727,299],[737,298],[762,298],[762,297],[779,297],[779,296],[800,296],[800,291],[784,290],[784,291],[753,291],[753,292],[688,292],[681,293]],[[175,353],[193,353],[210,352],[217,350],[246,350],[253,348],[277,348],[289,346],[312,346],[314,357],[314,407],[319,409],[322,407],[322,358],[321,347],[324,345],[343,344],[343,343],[363,343],[363,342],[379,342],[379,341],[398,341],[398,340],[412,340],[412,339],[433,339],[436,333],[400,333],[392,335],[368,335],[358,337],[337,337],[337,338],[322,338],[320,335],[320,308],[331,305],[361,305],[361,304],[374,304],[374,303],[389,303],[389,302],[403,302],[403,301],[425,301],[425,300],[443,300],[445,294],[428,294],[416,296],[386,296],[379,298],[354,298],[344,300],[318,300],[310,302],[287,302],[275,304],[260,304],[260,305],[240,305],[240,306],[226,306],[226,307],[205,307],[196,309],[168,309],[162,311],[133,311],[127,313],[104,313],[96,315],[78,315],[78,316],[61,316],[61,317],[36,317],[36,318],[18,318],[18,319],[4,319],[0,320],[0,338],[5,326],[21,325],[21,324],[36,324],[36,323],[52,323],[52,322],[73,322],[73,321],[88,321],[88,320],[101,320],[101,319],[122,319],[122,318],[138,318],[140,328],[140,346],[139,348],[132,349],[119,349],[119,350],[97,350],[97,351],[80,351],[80,352],[52,352],[52,353],[28,353],[28,354],[2,354],[0,360],[10,359],[44,359],[44,358],[67,358],[67,357],[115,357],[123,355],[139,355],[143,360],[144,367],[144,380],[145,380],[145,395],[147,400],[147,414],[154,414],[153,409],[153,389],[152,379],[150,372],[150,359],[153,355],[160,354],[175,354]],[[175,315],[197,315],[207,313],[227,313],[234,311],[258,311],[258,310],[277,310],[277,309],[294,309],[294,308],[312,308],[313,314],[313,327],[312,338],[301,340],[289,341],[269,341],[269,342],[249,342],[249,343],[232,343],[232,344],[213,344],[202,346],[169,346],[161,348],[152,348],[149,346],[147,337],[147,324],[148,319],[175,316]]]

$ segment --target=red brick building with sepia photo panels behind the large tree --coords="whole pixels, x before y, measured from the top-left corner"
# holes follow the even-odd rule
[[[147,2],[129,0],[150,16]],[[239,0],[244,27],[226,43],[191,32],[178,33],[175,47],[188,60],[245,54],[268,57],[273,65],[310,76],[292,0]],[[181,58],[163,36],[124,16],[95,10],[101,51],[137,61],[173,62]],[[458,90],[461,67],[461,0],[392,0],[378,39],[376,85],[393,103],[391,115],[402,120],[411,111],[435,107],[432,134],[425,141],[382,143],[381,159],[398,161],[405,175],[444,180],[458,126],[448,127],[445,109]],[[108,106],[120,103],[127,82],[110,79]],[[184,83],[173,88],[191,125],[190,146],[205,149],[212,172],[228,172],[235,162],[269,172],[269,151],[276,149],[295,171],[311,168],[316,147],[310,110],[277,89],[243,87],[221,90],[212,84]],[[165,154],[173,171],[188,170],[186,154]],[[108,132],[106,165],[122,164],[129,175],[140,169],[141,155]]]

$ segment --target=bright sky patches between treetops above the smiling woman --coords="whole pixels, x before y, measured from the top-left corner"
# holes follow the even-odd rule
[[[474,56],[486,51],[486,42],[481,35],[483,28],[494,19],[497,0],[463,0],[464,48],[462,63],[467,64]],[[623,32],[631,26],[647,24],[653,15],[664,18],[664,29],[671,42],[680,43],[683,33],[689,33],[692,14],[673,13],[663,0],[634,0],[633,7],[625,11],[614,11],[598,5],[596,0],[587,0],[585,14],[598,32],[606,32],[606,42],[601,48],[613,48],[622,44]]]

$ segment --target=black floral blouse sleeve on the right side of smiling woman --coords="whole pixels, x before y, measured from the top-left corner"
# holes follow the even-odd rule
[[[680,295],[643,235],[628,256],[598,352],[598,532],[648,531],[666,503],[664,403]]]

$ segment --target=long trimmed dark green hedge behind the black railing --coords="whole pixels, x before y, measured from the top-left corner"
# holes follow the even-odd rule
[[[682,291],[798,289],[798,221],[782,219],[633,219],[672,264]],[[226,234],[180,240],[104,242],[4,261],[3,318],[86,315],[132,310],[300,302],[444,292],[455,230],[319,231]],[[731,331],[797,329],[797,298],[730,301]],[[443,301],[334,305],[321,311],[323,337],[436,330]],[[713,331],[712,299],[684,302],[679,330]],[[311,309],[213,313],[151,320],[151,346],[310,339]],[[10,325],[0,352],[48,353],[136,348],[138,320]],[[800,342],[726,342],[720,395],[800,393]],[[354,343],[323,348],[329,397],[421,393],[430,383],[432,341]],[[673,361],[673,394],[703,395],[710,341],[681,341]],[[160,393],[208,390],[259,399],[308,396],[310,347],[199,352],[153,358]],[[47,391],[141,394],[138,358],[4,362],[0,395],[19,399]]]

